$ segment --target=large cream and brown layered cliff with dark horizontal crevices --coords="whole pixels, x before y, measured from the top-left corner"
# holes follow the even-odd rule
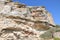
[[[12,0],[0,0],[0,40],[41,40],[40,35],[54,27],[44,6],[32,7]]]

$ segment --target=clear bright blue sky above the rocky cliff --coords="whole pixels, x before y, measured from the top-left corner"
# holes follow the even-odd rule
[[[28,6],[45,6],[52,14],[54,22],[60,25],[60,0],[14,0]]]

